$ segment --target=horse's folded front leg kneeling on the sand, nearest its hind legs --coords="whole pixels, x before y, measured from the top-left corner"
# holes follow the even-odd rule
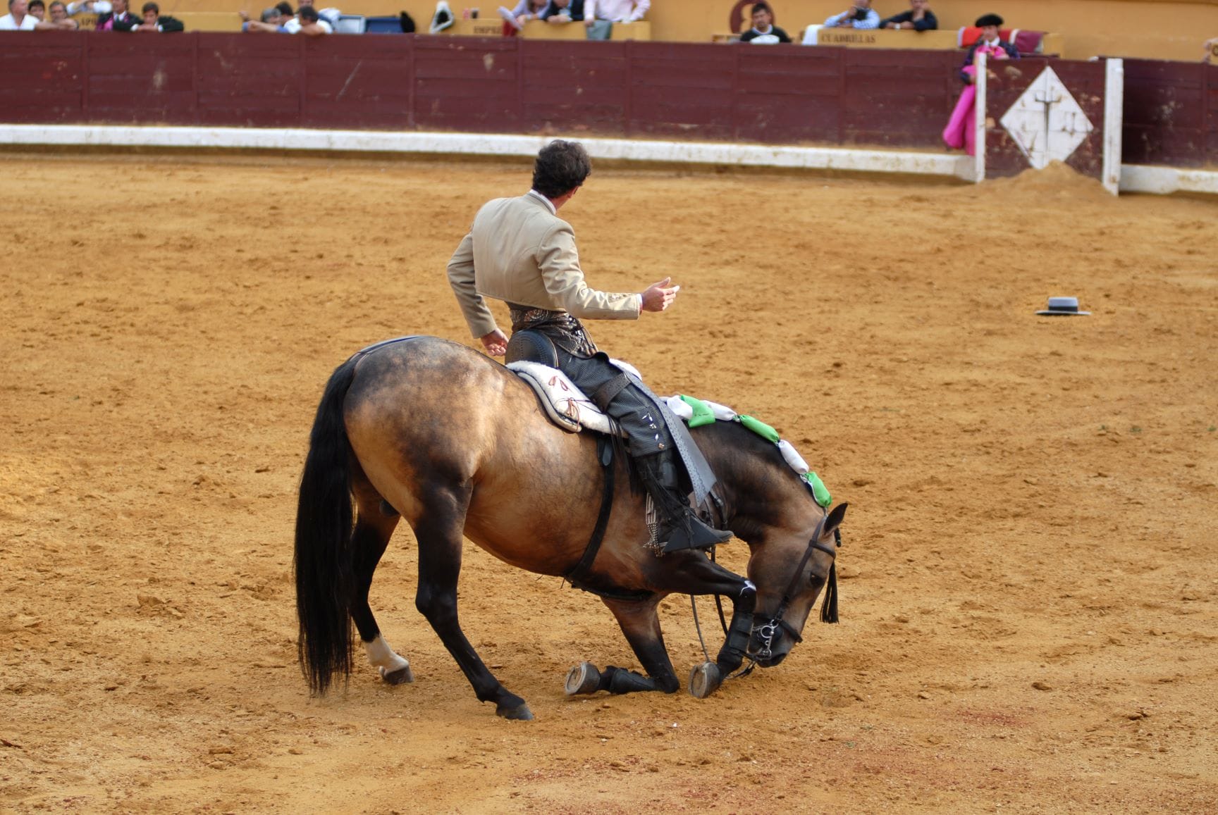
[[[633,670],[615,665],[598,670],[591,662],[585,662],[568,673],[568,696],[596,693],[597,691],[609,691],[610,693],[664,691],[672,693],[681,687],[681,681],[677,679],[676,671],[672,670],[669,651],[664,647],[664,634],[660,631],[660,618],[657,614],[660,597],[661,595],[655,595],[648,600],[638,601],[603,597],[605,606],[618,618],[621,633],[626,635],[626,641],[635,650],[635,656],[638,657],[647,675],[643,676]]]

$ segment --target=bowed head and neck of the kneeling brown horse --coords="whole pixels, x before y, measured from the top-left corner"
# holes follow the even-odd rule
[[[738,425],[716,425],[725,432],[708,459],[714,459],[711,466],[720,476],[728,525],[749,545],[747,577],[756,586],[745,656],[770,668],[801,641],[821,589],[831,584],[831,574],[836,577],[836,533],[847,505],[826,511],[776,445]],[[832,585],[831,591],[836,591]],[[836,597],[826,601],[833,612],[822,617],[836,622]]]

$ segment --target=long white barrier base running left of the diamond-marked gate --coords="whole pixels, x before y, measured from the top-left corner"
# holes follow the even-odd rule
[[[782,167],[855,173],[909,173],[972,180],[972,159],[950,153],[575,137],[587,147],[593,158],[602,159]],[[0,125],[0,145],[43,146],[335,150],[532,157],[551,139],[552,136],[307,130],[303,128]]]

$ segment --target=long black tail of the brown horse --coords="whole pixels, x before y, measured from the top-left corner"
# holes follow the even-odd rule
[[[317,408],[296,508],[296,653],[309,690],[351,675],[351,443],[342,403],[357,358],[335,369]]]

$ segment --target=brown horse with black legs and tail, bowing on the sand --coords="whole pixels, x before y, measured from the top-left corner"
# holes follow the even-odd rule
[[[643,496],[616,490],[604,544],[580,583],[603,597],[647,676],[583,663],[568,676],[569,693],[676,691],[657,617],[672,592],[722,595],[734,605],[716,663],[697,674],[697,696],[714,691],[745,657],[776,665],[829,579],[845,505],[826,513],[777,446],[738,423],[715,422],[693,438],[719,476],[723,524],[749,545],[748,578],[700,551],[658,557],[644,546]],[[607,482],[597,448],[591,433],[554,427],[529,386],[464,345],[406,337],[340,365],[318,406],[296,517],[298,650],[313,692],[350,675],[351,620],[386,681],[413,679],[368,605],[373,572],[401,517],[419,545],[419,611],[480,701],[495,702],[502,716],[531,719],[458,625],[462,536],[519,568],[570,574],[597,525]],[[622,457],[611,467],[625,483]]]

